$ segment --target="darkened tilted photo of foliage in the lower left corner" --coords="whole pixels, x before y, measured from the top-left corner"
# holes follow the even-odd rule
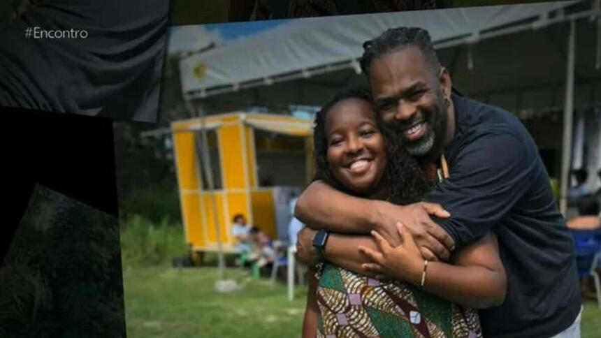
[[[1,337],[123,337],[117,219],[37,186],[0,268]]]

